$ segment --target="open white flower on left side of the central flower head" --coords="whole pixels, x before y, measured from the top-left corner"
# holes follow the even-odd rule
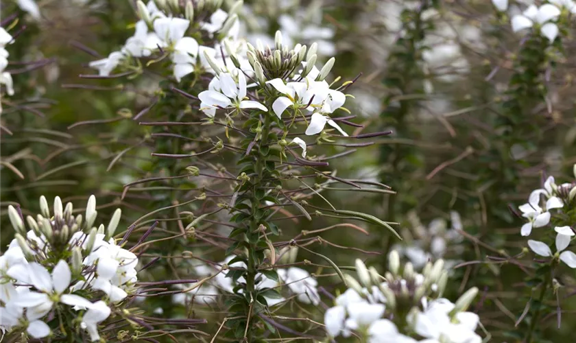
[[[242,71],[234,70],[234,75],[238,83],[234,80],[232,73],[220,73],[219,88],[221,91],[210,90],[201,92],[198,97],[202,101],[203,108],[257,108],[267,112],[268,109],[263,104],[252,100],[245,100],[246,97],[246,77]]]

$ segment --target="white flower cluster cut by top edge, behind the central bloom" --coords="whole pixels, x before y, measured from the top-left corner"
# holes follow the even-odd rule
[[[204,34],[211,36],[217,34],[226,41],[237,39],[239,24],[237,14],[233,11],[239,7],[238,5],[228,13],[219,9],[221,1],[202,1],[195,5],[189,2],[185,8],[168,6],[165,2],[158,8],[154,0],[148,1],[147,5],[138,1],[137,5],[141,20],[135,24],[134,35],[126,40],[119,51],[113,51],[107,58],[89,64],[90,67],[98,69],[99,75],[110,75],[121,62],[130,58],[160,54],[158,60],[170,58],[174,78],[180,81],[195,71],[196,62],[200,62],[204,69],[211,71],[212,67],[206,61],[206,56],[217,60],[221,51],[221,43],[216,43],[214,47],[199,45],[195,38],[187,36],[189,29],[200,29]],[[195,15],[206,16],[209,12],[212,12],[209,21],[200,21],[198,25],[193,25]],[[240,47],[237,45],[228,43],[229,47],[241,49],[241,44]],[[226,60],[221,60],[221,64],[226,64]]]

